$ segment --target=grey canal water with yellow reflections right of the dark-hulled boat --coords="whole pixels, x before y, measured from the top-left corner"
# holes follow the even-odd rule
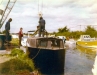
[[[66,49],[64,75],[93,75],[96,50],[96,48],[83,48],[75,44]]]

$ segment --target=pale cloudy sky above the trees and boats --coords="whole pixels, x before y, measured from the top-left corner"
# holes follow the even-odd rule
[[[0,0],[0,9],[5,9],[7,2]],[[48,32],[65,26],[71,31],[84,30],[87,25],[97,29],[97,0],[17,0],[6,19],[13,19],[10,31],[17,33],[20,27],[23,32],[36,30],[39,13],[43,14]]]

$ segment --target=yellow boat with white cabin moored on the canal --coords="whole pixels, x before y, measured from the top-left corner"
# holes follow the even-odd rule
[[[97,48],[96,38],[91,38],[90,35],[81,35],[76,44],[86,48]]]

